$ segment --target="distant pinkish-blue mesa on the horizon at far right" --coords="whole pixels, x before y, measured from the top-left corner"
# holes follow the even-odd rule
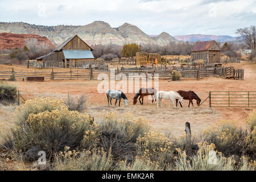
[[[174,36],[176,40],[182,40],[184,42],[197,42],[197,41],[208,41],[216,40],[218,42],[228,42],[234,41],[237,38],[229,35],[202,35],[202,34],[192,34],[192,35],[178,35]]]

